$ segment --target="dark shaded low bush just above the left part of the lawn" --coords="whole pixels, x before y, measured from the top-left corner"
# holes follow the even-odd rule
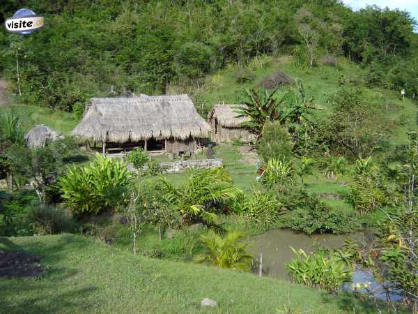
[[[77,232],[78,224],[70,212],[53,206],[42,205],[29,209],[26,222],[35,234]]]

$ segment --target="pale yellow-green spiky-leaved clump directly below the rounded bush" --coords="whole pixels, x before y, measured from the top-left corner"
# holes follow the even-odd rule
[[[295,168],[289,160],[269,158],[261,176],[261,184],[267,188],[284,189],[293,183]]]

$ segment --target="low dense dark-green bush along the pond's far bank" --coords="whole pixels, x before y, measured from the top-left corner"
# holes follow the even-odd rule
[[[309,194],[305,190],[283,195],[281,202],[288,209],[293,209],[281,218],[282,226],[291,230],[307,234],[339,234],[353,232],[362,227],[362,220],[354,212],[332,210],[318,195]]]

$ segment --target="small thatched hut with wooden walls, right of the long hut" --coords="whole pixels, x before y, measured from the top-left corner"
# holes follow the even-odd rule
[[[214,142],[233,142],[241,140],[242,142],[251,142],[254,135],[240,125],[242,122],[249,121],[248,117],[237,118],[238,110],[236,107],[244,105],[215,105],[208,114],[210,124],[210,137]]]

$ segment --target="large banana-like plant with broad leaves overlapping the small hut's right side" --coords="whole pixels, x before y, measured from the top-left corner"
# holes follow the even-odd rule
[[[247,89],[247,98],[243,101],[246,106],[236,107],[237,117],[249,117],[249,121],[243,122],[241,126],[256,135],[257,138],[263,134],[267,121],[282,120],[283,110],[281,107],[287,94],[278,99],[277,91],[278,89],[275,89],[269,93],[265,89]]]

